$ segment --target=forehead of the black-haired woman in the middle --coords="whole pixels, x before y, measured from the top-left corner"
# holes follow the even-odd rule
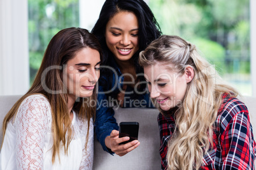
[[[131,28],[138,27],[138,18],[129,11],[120,11],[110,18],[107,27]]]

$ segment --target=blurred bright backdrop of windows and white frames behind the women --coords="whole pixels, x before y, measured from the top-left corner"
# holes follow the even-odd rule
[[[9,25],[9,28],[1,27],[0,29],[3,36],[0,41],[0,50],[2,50],[0,95],[24,94],[36,75],[50,39],[66,27],[83,27],[91,30],[104,3],[104,0],[22,0],[24,2],[18,4],[15,0],[10,0],[11,3],[6,1],[0,0],[1,9],[4,10],[1,11],[1,22]],[[251,50],[254,49],[251,49],[252,31],[250,31],[252,1],[254,0],[147,0],[146,3],[157,18],[163,34],[177,35],[196,44],[203,56],[215,65],[223,81],[237,88],[242,95],[256,96],[254,92],[256,87],[253,87],[256,85],[253,77],[256,73],[254,68],[251,68],[254,61],[251,56]],[[14,2],[16,7],[13,7]],[[20,12],[24,13],[24,16],[15,12],[15,9],[20,10],[22,6],[24,9]],[[11,12],[11,16],[8,15],[10,14],[8,7],[10,11],[14,11]],[[21,23],[23,26],[17,28],[15,26],[17,23],[6,22],[4,16],[15,18],[17,22],[23,21]],[[21,20],[20,17],[22,17]],[[4,30],[10,34],[12,32],[12,37],[6,35]],[[6,62],[4,59],[6,54],[10,55],[8,50],[14,50],[5,47],[6,41],[11,41],[12,44],[17,43],[17,37],[13,36],[13,31],[20,30],[23,36],[18,35],[21,36],[20,40],[17,40],[17,47],[13,48],[18,49],[22,44],[24,47],[19,50],[20,53],[11,52],[14,59]],[[24,41],[24,37],[27,37],[27,41]],[[24,60],[18,62],[22,51],[27,58],[24,57]],[[11,68],[6,67],[6,63],[12,65]],[[13,66],[20,67],[20,64],[23,65],[22,69],[13,71]],[[20,79],[21,75],[17,75],[17,72],[24,72],[27,78]],[[17,76],[20,80],[10,80],[10,76]],[[12,83],[4,84],[6,79]],[[25,85],[19,85],[24,81]],[[15,90],[18,87],[23,88]]]

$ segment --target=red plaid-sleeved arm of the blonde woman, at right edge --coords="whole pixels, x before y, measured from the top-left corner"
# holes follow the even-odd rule
[[[227,124],[227,128],[225,128],[220,139],[223,162],[221,169],[253,169],[255,141],[253,141],[248,110],[245,105],[236,107],[239,107],[241,112],[236,111],[237,113]]]

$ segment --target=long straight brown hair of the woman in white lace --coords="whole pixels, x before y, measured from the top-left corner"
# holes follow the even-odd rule
[[[60,30],[55,36],[53,36],[46,48],[41,67],[36,74],[31,88],[15,103],[15,105],[13,105],[11,110],[4,117],[3,141],[8,122],[12,117],[16,116],[18,107],[20,107],[22,101],[27,98],[27,96],[41,94],[48,99],[52,109],[52,163],[55,162],[56,156],[59,156],[60,147],[64,147],[65,154],[68,154],[69,144],[73,138],[73,127],[67,106],[68,94],[64,93],[66,89],[61,75],[63,74],[64,65],[66,65],[66,63],[76,55],[76,52],[83,48],[96,49],[99,51],[102,60],[99,42],[96,37],[90,34],[86,29],[72,27]],[[57,69],[50,69],[56,66],[58,67]],[[46,69],[50,69],[47,74],[45,74]],[[96,97],[96,90],[94,89],[93,95],[87,100],[96,100]],[[78,98],[73,106],[73,110],[76,112],[78,117],[81,117],[83,120],[87,119],[87,140],[85,143],[85,147],[87,147],[90,118],[94,117],[96,108],[91,107],[90,105],[84,105],[84,100],[85,98]]]

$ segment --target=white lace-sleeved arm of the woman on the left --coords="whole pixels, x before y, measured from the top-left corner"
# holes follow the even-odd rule
[[[43,169],[43,145],[48,127],[46,99],[25,100],[15,118],[17,169]]]

